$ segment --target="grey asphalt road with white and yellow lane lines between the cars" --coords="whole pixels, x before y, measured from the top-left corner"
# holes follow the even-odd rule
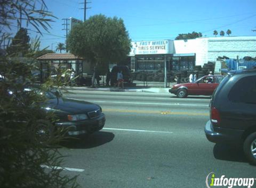
[[[206,188],[210,172],[256,178],[240,147],[206,139],[209,97],[100,91],[66,97],[97,103],[106,115],[102,131],[60,149],[68,155],[63,166],[75,168],[64,173],[79,175],[83,188]]]

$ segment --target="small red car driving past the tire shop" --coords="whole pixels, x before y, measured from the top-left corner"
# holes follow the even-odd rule
[[[176,84],[169,92],[176,94],[179,98],[185,98],[188,95],[212,95],[222,78],[224,78],[222,75],[203,76],[193,83]]]

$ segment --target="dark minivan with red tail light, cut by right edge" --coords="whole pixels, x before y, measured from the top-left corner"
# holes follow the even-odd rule
[[[242,145],[256,164],[256,69],[226,72],[211,98],[205,134],[214,143]]]

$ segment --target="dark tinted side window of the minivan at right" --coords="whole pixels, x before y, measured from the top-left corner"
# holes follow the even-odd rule
[[[228,99],[232,102],[256,104],[256,76],[241,78],[231,88]]]

